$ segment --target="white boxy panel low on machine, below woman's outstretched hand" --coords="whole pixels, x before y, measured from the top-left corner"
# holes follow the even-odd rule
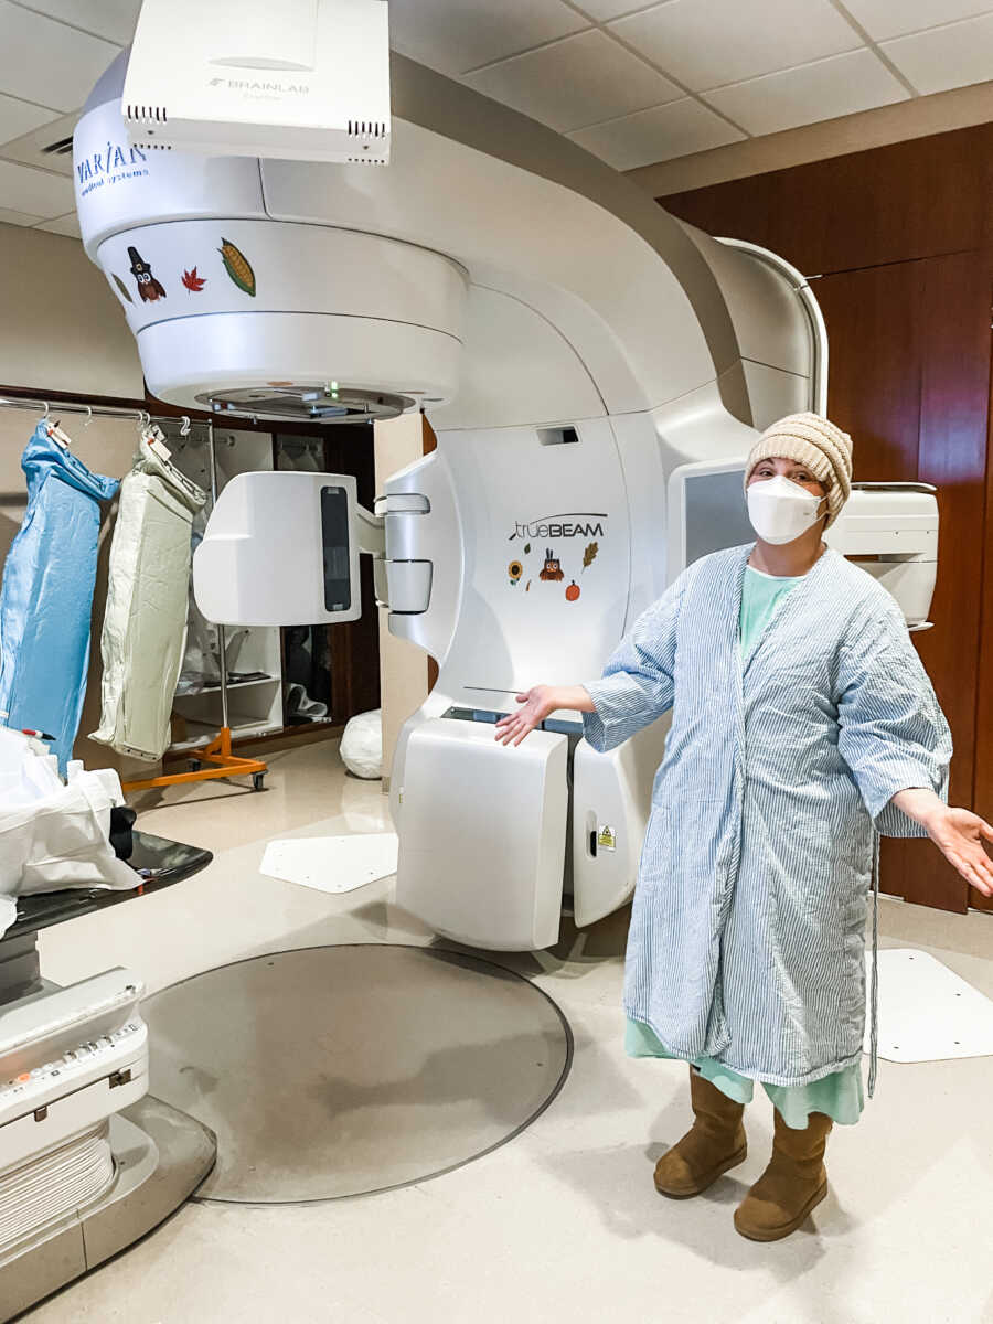
[[[406,748],[397,902],[437,933],[524,952],[559,937],[568,740],[516,749],[489,723],[434,718]]]

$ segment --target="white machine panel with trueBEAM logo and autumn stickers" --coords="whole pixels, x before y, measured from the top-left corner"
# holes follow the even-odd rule
[[[608,420],[444,433],[438,450],[458,494],[448,556],[461,535],[465,575],[444,692],[507,708],[543,677],[600,675],[624,634],[630,576],[628,494]],[[433,508],[417,527],[430,536],[437,522]]]

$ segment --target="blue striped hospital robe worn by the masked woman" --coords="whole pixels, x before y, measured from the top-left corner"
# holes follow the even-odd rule
[[[634,624],[585,737],[669,708],[628,937],[625,1010],[677,1057],[808,1084],[862,1053],[875,831],[924,835],[952,740],[895,600],[826,551],[743,662],[751,547],[690,565]]]

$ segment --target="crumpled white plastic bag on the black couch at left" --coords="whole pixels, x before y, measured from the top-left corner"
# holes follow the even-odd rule
[[[42,751],[42,752],[38,752]],[[70,887],[130,890],[138,875],[110,845],[110,810],[124,802],[110,768],[69,765],[62,782],[37,741],[0,728],[0,935],[13,923],[11,899]]]

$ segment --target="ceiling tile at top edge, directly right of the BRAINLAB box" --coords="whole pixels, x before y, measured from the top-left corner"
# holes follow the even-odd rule
[[[459,74],[589,23],[561,0],[391,0],[389,44],[444,74]]]

